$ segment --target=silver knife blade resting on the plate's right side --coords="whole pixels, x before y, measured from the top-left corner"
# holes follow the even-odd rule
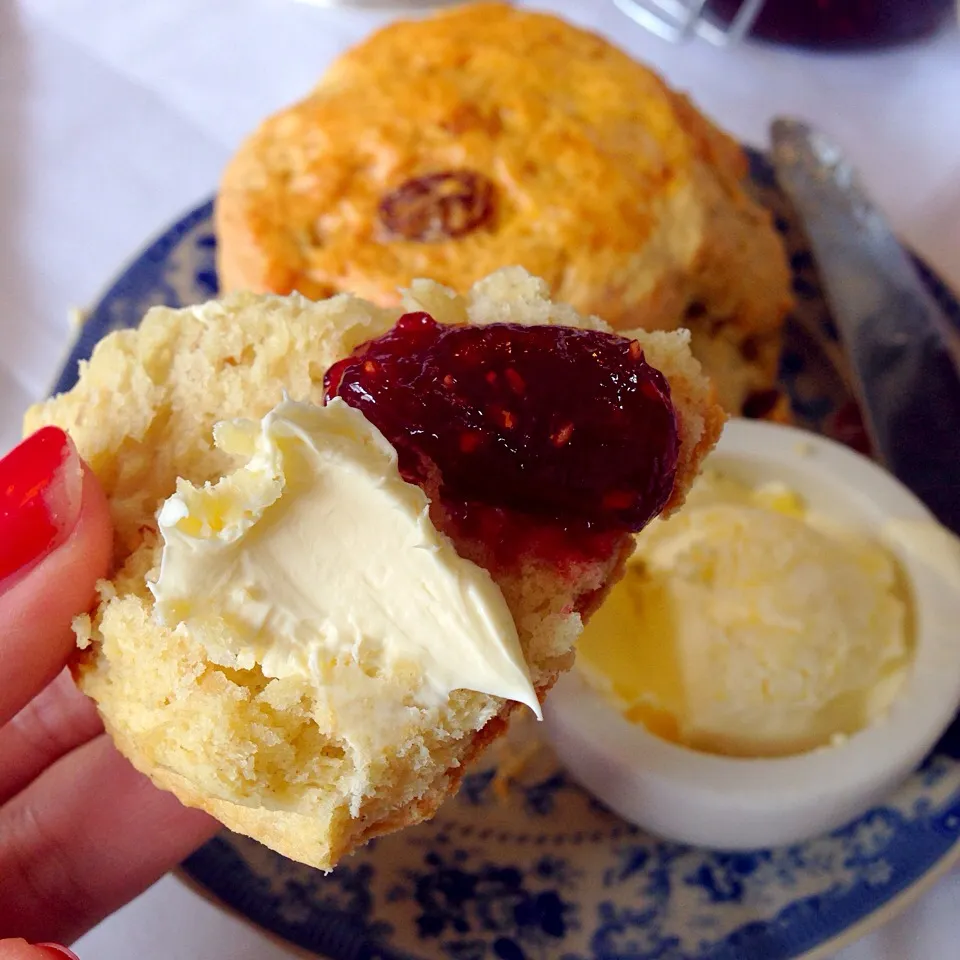
[[[770,134],[878,459],[960,533],[960,333],[836,144],[787,118]]]

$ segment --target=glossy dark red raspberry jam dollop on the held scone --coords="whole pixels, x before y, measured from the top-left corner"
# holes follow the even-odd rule
[[[407,480],[439,475],[463,519],[486,507],[498,523],[508,511],[569,532],[639,530],[673,490],[670,388],[614,334],[409,313],[334,364],[324,388],[384,434]]]

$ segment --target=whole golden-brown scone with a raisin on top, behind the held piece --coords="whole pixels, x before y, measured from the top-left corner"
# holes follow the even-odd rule
[[[789,273],[740,147],[602,38],[504,3],[397,22],[268,119],[216,205],[225,291],[397,302],[519,264],[617,329],[689,327],[731,413],[776,407]]]

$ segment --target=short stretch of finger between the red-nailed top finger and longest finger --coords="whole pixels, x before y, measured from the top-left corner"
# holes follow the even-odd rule
[[[0,727],[0,804],[60,757],[102,732],[103,721],[93,701],[76,688],[69,670],[61,671]]]

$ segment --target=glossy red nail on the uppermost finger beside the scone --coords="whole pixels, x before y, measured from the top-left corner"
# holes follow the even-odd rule
[[[59,427],[38,430],[0,460],[0,587],[70,535],[82,491],[80,457]]]

